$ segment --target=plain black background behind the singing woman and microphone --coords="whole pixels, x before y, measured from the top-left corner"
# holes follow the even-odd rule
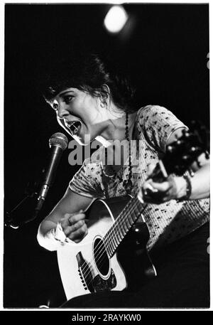
[[[141,106],[158,104],[183,122],[209,127],[209,12],[207,4],[125,4],[131,21],[119,35],[103,27],[108,4],[6,4],[4,207],[26,196],[48,159],[48,139],[63,132],[43,100],[40,75],[70,50],[107,54],[128,73]],[[139,108],[139,106],[138,106]],[[69,138],[70,140],[70,138]],[[79,166],[62,156],[40,216],[17,230],[4,228],[4,307],[58,307],[65,301],[55,252],[40,247],[38,225],[67,188]],[[21,223],[33,199],[15,213]],[[5,213],[6,218],[6,213]]]

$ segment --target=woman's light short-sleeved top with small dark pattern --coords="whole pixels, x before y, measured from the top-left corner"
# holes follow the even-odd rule
[[[133,132],[135,141],[131,142],[132,196],[136,195],[146,180],[148,165],[159,161],[170,134],[180,127],[186,126],[165,107],[148,105],[138,110]],[[128,179],[128,163],[126,161],[121,167],[116,178],[105,176],[100,159],[103,149],[102,146],[89,159],[85,159],[70,181],[72,191],[91,198],[126,195],[120,179]],[[151,250],[172,243],[206,223],[209,220],[209,199],[148,204],[143,211],[143,220],[150,232],[147,248]]]

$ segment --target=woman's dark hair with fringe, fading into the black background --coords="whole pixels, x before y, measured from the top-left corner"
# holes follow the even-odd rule
[[[88,92],[106,99],[110,90],[111,100],[124,112],[135,112],[135,90],[117,66],[97,54],[77,55],[53,65],[45,78],[43,95],[47,102],[68,87]]]

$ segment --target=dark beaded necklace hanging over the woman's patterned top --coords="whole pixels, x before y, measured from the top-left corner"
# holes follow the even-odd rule
[[[130,194],[131,190],[133,188],[133,183],[131,181],[131,176],[132,176],[131,142],[130,142],[130,139],[129,139],[129,115],[128,115],[128,113],[126,113],[125,137],[126,137],[126,140],[128,141],[128,144],[129,144],[129,174],[128,174],[128,179],[126,179],[126,180],[122,179],[119,176],[119,174],[114,170],[114,168],[112,166],[110,166],[110,165],[108,165],[108,167],[111,169],[112,175],[109,176],[109,175],[105,174],[103,167],[102,167],[102,175],[107,176],[107,177],[111,177],[111,179],[113,179],[114,181],[115,181],[115,179],[117,177],[119,179],[119,181],[121,181],[121,183],[123,183],[126,194]],[[107,161],[107,148],[105,148],[105,161]],[[102,178],[102,179],[104,179],[104,178]],[[104,181],[104,183],[105,183],[105,181]],[[107,195],[107,197],[108,197],[108,195]]]

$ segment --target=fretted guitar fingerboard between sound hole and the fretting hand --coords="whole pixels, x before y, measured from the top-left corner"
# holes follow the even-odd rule
[[[132,225],[139,218],[147,204],[141,203],[137,196],[131,198],[124,210],[116,218],[114,224],[104,235],[104,246],[109,254],[109,257],[114,255],[117,247],[124,239],[126,234],[131,229]]]

